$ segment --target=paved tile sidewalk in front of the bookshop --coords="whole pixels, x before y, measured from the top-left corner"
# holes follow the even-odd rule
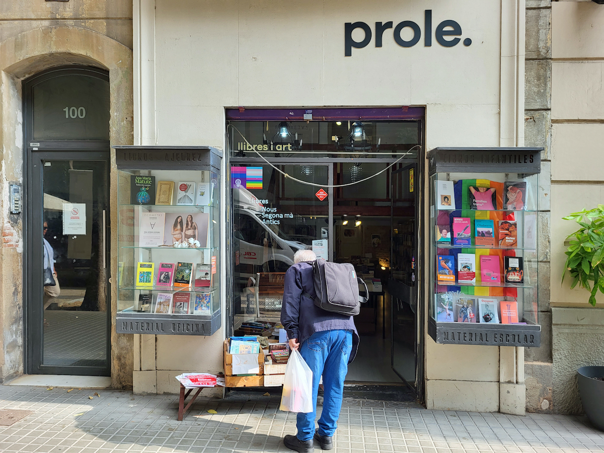
[[[204,398],[178,422],[174,395],[99,391],[100,397],[89,399],[94,390],[66,390],[0,385],[0,409],[34,411],[0,426],[0,452],[289,452],[281,439],[295,433],[295,414],[279,411],[276,396]],[[583,417],[429,411],[408,403],[345,399],[333,451],[604,451],[604,432],[586,423]]]

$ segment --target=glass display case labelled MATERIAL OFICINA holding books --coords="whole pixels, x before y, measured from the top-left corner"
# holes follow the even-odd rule
[[[220,327],[220,159],[208,147],[115,147],[118,333]]]

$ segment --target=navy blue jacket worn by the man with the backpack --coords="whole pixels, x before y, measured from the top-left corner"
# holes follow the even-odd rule
[[[303,296],[307,292],[313,297]],[[281,324],[288,332],[288,338],[297,338],[302,344],[315,332],[325,330],[350,330],[352,332],[352,351],[349,363],[355,359],[359,346],[359,334],[356,332],[352,316],[327,312],[315,305],[315,284],[313,283],[312,264],[296,263],[285,273],[283,305],[281,306]]]

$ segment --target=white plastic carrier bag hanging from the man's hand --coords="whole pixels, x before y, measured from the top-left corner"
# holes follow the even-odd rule
[[[289,355],[285,367],[281,411],[312,412],[312,370],[297,349]]]

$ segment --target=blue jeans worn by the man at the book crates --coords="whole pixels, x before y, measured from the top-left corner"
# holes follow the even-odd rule
[[[298,439],[312,439],[315,435],[316,394],[323,375],[323,412],[319,419],[319,435],[333,435],[342,408],[344,377],[352,350],[350,330],[315,332],[300,346],[300,354],[312,370],[312,412],[298,413]]]

